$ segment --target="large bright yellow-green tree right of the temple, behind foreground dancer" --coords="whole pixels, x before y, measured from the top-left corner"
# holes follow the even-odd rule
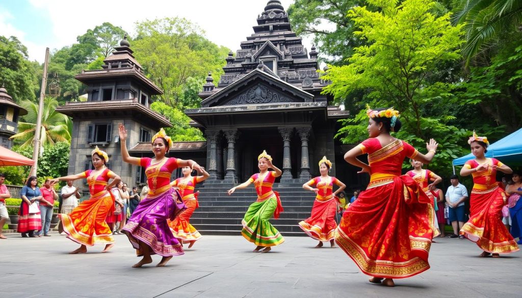
[[[359,28],[354,34],[367,45],[356,47],[348,65],[332,66],[325,77],[331,85],[324,92],[341,101],[348,94],[364,92],[353,99],[361,109],[389,107],[402,112],[404,123],[398,137],[422,148],[425,140],[436,138],[444,148],[441,164],[464,152],[462,143],[468,132],[451,125],[453,114],[443,114],[441,105],[452,103],[454,85],[441,79],[445,63],[459,61],[462,43],[461,25],[452,26],[449,13],[437,17],[431,13],[431,0],[369,0],[377,11],[354,7],[348,13]],[[446,71],[447,72],[447,71]],[[365,138],[367,118],[362,110],[339,130],[345,142]],[[438,159],[437,159],[438,160]]]

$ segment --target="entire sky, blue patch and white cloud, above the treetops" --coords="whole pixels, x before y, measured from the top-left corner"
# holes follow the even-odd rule
[[[40,63],[45,48],[76,43],[88,29],[110,22],[131,35],[135,23],[146,19],[183,17],[197,23],[207,38],[236,51],[254,33],[257,15],[268,0],[0,0],[0,35],[16,36],[27,46],[29,58]],[[281,0],[285,9],[292,0]],[[303,37],[309,50],[311,38]],[[131,44],[132,47],[132,44]]]

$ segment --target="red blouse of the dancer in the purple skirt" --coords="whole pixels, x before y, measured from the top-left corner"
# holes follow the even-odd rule
[[[143,157],[139,159],[139,164],[145,167],[147,184],[149,186],[148,196],[155,196],[165,192],[170,186],[172,172],[177,169],[176,158],[166,158],[155,164],[150,164],[151,158]]]

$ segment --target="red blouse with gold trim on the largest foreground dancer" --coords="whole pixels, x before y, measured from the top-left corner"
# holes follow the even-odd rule
[[[419,153],[410,144],[399,139],[382,147],[378,139],[370,138],[357,146],[363,153],[368,153],[372,174],[367,188],[391,183],[394,177],[400,176],[404,159],[414,159]]]

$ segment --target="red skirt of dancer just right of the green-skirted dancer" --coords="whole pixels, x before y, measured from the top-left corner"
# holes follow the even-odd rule
[[[336,211],[337,201],[334,197],[325,202],[316,199],[314,207],[312,207],[312,214],[309,218],[299,222],[299,227],[315,240],[333,240],[337,228]]]

